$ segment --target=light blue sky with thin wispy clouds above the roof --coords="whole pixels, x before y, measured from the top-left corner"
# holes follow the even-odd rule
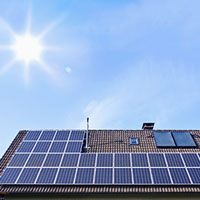
[[[19,130],[200,129],[199,0],[0,0],[0,157]],[[15,35],[42,36],[25,64]],[[26,68],[28,66],[28,68]]]

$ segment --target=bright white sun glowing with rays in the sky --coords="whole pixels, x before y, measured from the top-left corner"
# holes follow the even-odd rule
[[[16,60],[22,60],[28,65],[31,61],[40,61],[44,47],[38,37],[34,37],[28,32],[25,35],[16,35],[11,49],[16,54]]]

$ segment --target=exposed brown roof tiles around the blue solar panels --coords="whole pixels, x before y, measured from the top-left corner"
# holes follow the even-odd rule
[[[195,138],[196,148],[157,148],[153,131],[187,131]],[[0,175],[27,135],[19,131],[0,160]],[[139,138],[139,145],[130,145],[129,138]],[[200,153],[200,130],[89,130],[86,153]],[[0,185],[0,193],[199,193],[200,185]]]

